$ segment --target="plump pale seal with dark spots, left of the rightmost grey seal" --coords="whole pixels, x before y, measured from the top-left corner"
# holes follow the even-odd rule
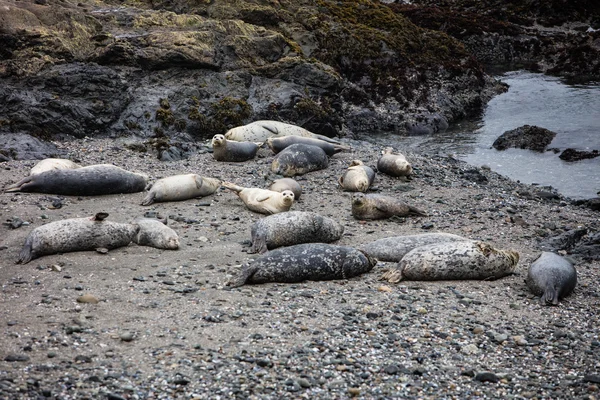
[[[417,247],[381,279],[396,283],[402,279],[443,281],[497,279],[514,272],[519,253],[498,250],[479,241],[445,242]]]

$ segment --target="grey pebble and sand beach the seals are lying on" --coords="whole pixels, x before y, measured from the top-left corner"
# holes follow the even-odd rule
[[[133,144],[82,139],[56,146],[83,165],[114,163],[152,180],[194,172],[265,187],[273,178],[268,149],[253,161],[218,163],[198,144],[186,160],[160,162]],[[150,207],[139,205],[142,193],[0,194],[6,222],[0,227],[0,397],[594,398],[600,381],[597,212],[452,158],[407,154],[414,179],[378,175],[375,190],[429,216],[357,221],[337,178],[352,159],[373,165],[381,149],[344,144],[352,152],[301,177],[304,193],[293,210],[342,223],[343,245],[432,231],[486,240],[520,253],[516,274],[392,285],[379,280],[391,266],[380,262],[350,280],[229,289],[229,277],[255,257],[246,251],[250,225],[261,216],[228,191]],[[0,186],[33,164],[3,163]],[[108,254],[13,264],[32,228],[99,211],[122,222],[146,212],[168,215],[182,247],[131,244]],[[25,224],[11,229],[15,219]],[[578,256],[584,243],[592,251]],[[540,306],[524,283],[542,249],[566,250],[578,261],[578,286],[558,307]],[[99,302],[78,302],[83,294]]]

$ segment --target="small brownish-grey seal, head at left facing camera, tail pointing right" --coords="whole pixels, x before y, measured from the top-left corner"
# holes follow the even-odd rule
[[[427,216],[425,211],[409,206],[390,196],[355,193],[352,195],[352,215],[356,219],[385,219],[393,216]]]

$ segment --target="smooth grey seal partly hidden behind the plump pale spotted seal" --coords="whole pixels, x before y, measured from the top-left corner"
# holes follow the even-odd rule
[[[417,235],[392,236],[360,246],[359,248],[379,261],[398,262],[412,249],[430,244],[468,241],[451,233],[421,233]]]

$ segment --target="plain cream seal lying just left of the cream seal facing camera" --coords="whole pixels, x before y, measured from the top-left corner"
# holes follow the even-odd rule
[[[216,192],[219,186],[220,180],[197,174],[168,176],[154,182],[142,200],[142,205],[204,197]]]

